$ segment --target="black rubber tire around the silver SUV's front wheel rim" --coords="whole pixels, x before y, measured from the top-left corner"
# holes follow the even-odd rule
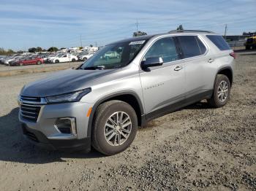
[[[105,123],[109,117],[115,112],[125,112],[128,114],[130,121],[132,122],[130,134],[123,144],[113,146],[105,139]],[[135,110],[124,101],[108,101],[98,106],[92,125],[91,144],[94,149],[101,152],[104,155],[116,155],[119,152],[124,151],[132,144],[135,139],[138,128],[138,120]],[[119,134],[121,136],[121,134]]]

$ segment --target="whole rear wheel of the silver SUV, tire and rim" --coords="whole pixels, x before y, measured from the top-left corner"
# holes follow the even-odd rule
[[[226,88],[225,88],[226,87]],[[218,93],[221,92],[221,93]],[[219,94],[219,96],[218,96]],[[214,82],[214,93],[208,104],[212,107],[219,108],[225,106],[230,98],[230,80],[223,74],[217,74]]]

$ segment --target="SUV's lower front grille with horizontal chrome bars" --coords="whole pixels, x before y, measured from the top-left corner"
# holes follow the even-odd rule
[[[20,115],[26,120],[37,122],[40,109],[41,109],[41,106],[21,104]]]

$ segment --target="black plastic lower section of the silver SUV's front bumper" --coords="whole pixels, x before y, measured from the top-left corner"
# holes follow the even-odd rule
[[[39,130],[34,130],[29,128],[25,123],[21,123],[21,128],[23,130],[23,135],[32,144],[37,147],[42,147],[50,150],[61,150],[61,151],[75,151],[83,150],[85,152],[90,152],[91,150],[91,138],[87,137],[84,139],[48,139]]]

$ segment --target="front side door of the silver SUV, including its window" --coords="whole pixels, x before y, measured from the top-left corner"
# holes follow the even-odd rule
[[[146,58],[159,57],[164,61],[162,66],[140,70],[140,82],[148,119],[167,112],[172,104],[184,98],[184,63],[178,61],[179,55],[173,37],[157,39],[143,56],[143,61]]]

